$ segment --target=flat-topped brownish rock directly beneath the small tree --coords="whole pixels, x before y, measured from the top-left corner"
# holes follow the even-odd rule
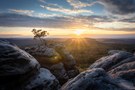
[[[43,65],[53,65],[61,62],[61,56],[53,48],[34,46],[25,48],[25,51],[33,55]]]

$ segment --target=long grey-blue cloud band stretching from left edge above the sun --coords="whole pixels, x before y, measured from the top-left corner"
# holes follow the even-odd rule
[[[92,26],[95,22],[111,22],[111,19],[107,16],[96,15],[39,18],[15,13],[0,14],[0,26],[8,27],[70,28],[70,26],[72,27],[73,25],[82,25],[82,27],[83,25]]]

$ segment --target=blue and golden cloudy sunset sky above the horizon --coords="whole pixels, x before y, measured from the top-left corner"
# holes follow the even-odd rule
[[[50,37],[135,37],[135,0],[1,0],[0,37],[31,37],[33,28]]]

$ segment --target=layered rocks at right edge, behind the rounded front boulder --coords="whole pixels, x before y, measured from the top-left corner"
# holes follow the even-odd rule
[[[108,56],[97,60],[89,67],[89,69],[93,68],[102,68],[124,86],[132,87],[129,90],[135,89],[135,55],[133,53],[119,50],[109,51]]]

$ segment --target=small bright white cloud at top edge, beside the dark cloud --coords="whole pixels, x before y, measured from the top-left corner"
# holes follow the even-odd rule
[[[85,1],[85,0],[84,0]],[[86,1],[86,2],[82,2],[80,0],[67,0],[67,2],[73,6],[73,8],[78,9],[78,8],[83,8],[83,7],[87,7],[87,6],[92,6],[95,3],[97,3],[97,1]]]

